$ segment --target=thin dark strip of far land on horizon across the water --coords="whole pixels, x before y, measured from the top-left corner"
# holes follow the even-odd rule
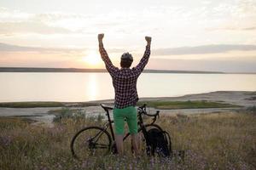
[[[106,69],[81,68],[44,68],[44,67],[0,67],[0,72],[107,72]],[[144,70],[144,73],[194,73],[194,74],[226,74],[221,71],[170,71]]]

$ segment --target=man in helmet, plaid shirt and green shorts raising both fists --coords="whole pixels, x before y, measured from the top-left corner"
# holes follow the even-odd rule
[[[136,67],[130,69],[133,61],[132,55],[129,53],[122,54],[120,66],[121,69],[115,67],[108,57],[106,50],[103,47],[102,39],[104,34],[98,35],[99,50],[102,55],[106,68],[113,79],[114,88],[114,109],[113,109],[113,123],[115,129],[115,142],[118,153],[123,155],[123,137],[125,119],[131,133],[131,144],[133,146],[136,156],[139,155],[138,149],[138,134],[137,134],[137,111],[136,104],[138,100],[137,95],[137,78],[143,72],[144,67],[148,63],[150,55],[151,37],[145,37],[147,41],[146,51],[143,58]]]

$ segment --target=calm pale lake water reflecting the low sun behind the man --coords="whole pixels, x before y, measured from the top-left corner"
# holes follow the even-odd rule
[[[218,90],[256,91],[256,75],[143,73],[140,97],[169,97]],[[0,73],[0,102],[113,99],[108,73]]]

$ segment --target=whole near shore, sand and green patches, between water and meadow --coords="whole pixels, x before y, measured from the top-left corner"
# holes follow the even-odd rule
[[[191,115],[245,111],[256,105],[256,91],[216,91],[206,94],[187,94],[180,97],[141,98],[150,112],[161,115]],[[0,102],[0,119],[5,116],[25,117],[50,124],[63,109],[84,111],[88,115],[105,114],[100,104],[113,106],[113,99],[87,102]]]

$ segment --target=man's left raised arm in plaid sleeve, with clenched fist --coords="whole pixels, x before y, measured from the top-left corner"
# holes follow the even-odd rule
[[[106,65],[106,69],[108,70],[108,72],[111,75],[113,75],[113,73],[115,71],[117,71],[118,68],[113,66],[111,60],[108,57],[108,53],[107,53],[107,51],[105,50],[105,48],[103,46],[103,42],[102,42],[103,37],[104,37],[104,34],[98,34],[99,51],[100,51],[100,54],[102,56],[102,60],[104,61],[105,65]]]

